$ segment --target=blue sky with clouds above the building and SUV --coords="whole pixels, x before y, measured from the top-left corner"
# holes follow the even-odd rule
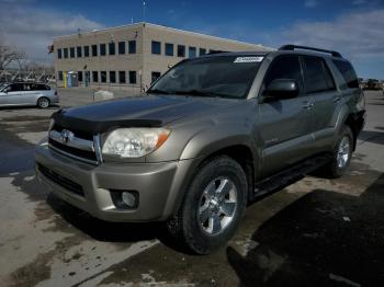
[[[59,35],[149,23],[278,48],[340,51],[359,77],[384,79],[384,0],[0,0],[0,37],[37,62]]]

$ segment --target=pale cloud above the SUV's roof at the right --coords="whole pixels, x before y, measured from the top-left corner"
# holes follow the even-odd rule
[[[350,12],[329,22],[302,22],[274,35],[275,42],[325,47],[352,58],[384,57],[384,9]]]

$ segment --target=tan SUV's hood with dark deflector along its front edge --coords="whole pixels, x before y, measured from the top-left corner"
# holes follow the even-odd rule
[[[142,95],[65,108],[53,114],[68,129],[103,133],[115,127],[161,127],[173,120],[234,104],[234,100],[182,95]]]

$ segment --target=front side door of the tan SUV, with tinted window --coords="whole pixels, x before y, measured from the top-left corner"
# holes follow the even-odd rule
[[[294,97],[263,96],[269,83],[276,79],[292,79],[298,84]],[[310,156],[314,115],[312,97],[304,92],[298,56],[280,56],[273,60],[261,89],[257,133],[261,142],[261,176],[268,176]]]

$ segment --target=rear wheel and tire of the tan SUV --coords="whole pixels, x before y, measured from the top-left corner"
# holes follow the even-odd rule
[[[341,177],[348,170],[353,150],[353,134],[349,126],[345,126],[339,134],[331,162],[326,167],[325,171],[331,179]]]

